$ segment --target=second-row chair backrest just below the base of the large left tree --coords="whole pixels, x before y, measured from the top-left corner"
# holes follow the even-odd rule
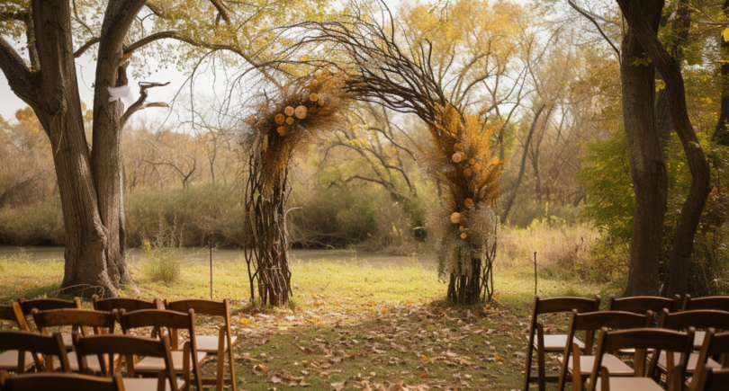
[[[94,311],[89,309],[63,308],[39,311],[33,309],[33,321],[40,333],[45,333],[49,327],[69,326],[72,332],[81,332],[86,335],[86,328],[91,328],[95,334],[113,333],[116,324],[116,315],[111,312]]]

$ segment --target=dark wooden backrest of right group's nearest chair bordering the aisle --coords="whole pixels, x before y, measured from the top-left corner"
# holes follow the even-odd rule
[[[653,376],[661,351],[680,353],[680,362],[674,367],[669,362],[667,370],[672,373],[678,368],[680,373],[676,378],[683,378],[684,369],[689,361],[689,353],[693,350],[694,330],[677,332],[660,328],[635,328],[628,330],[608,331],[603,329],[600,333],[598,351],[590,374],[590,390],[594,391],[597,379],[601,376],[602,358],[605,354],[622,349],[635,349],[634,368],[635,376]],[[653,350],[650,363],[646,366],[646,350]],[[672,357],[671,354],[667,356]],[[646,369],[647,368],[647,369]]]

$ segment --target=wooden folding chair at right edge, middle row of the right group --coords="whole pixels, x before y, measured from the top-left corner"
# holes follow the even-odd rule
[[[715,309],[692,309],[689,311],[669,313],[664,310],[659,325],[662,328],[671,330],[688,330],[689,327],[693,327],[695,329],[694,350],[699,350],[704,345],[707,329],[729,330],[729,312]],[[689,355],[689,361],[686,364],[687,373],[693,373],[697,368],[697,364],[698,366],[707,364],[713,368],[719,367],[716,361],[710,358],[705,361],[700,361],[698,356],[699,353],[695,351],[692,351]],[[663,372],[667,369],[667,358],[667,353],[662,352],[658,359],[658,368]]]

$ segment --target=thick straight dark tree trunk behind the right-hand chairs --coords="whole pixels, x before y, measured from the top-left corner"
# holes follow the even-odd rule
[[[641,2],[657,33],[662,1]],[[635,5],[637,6],[637,5]],[[667,174],[660,130],[654,116],[655,72],[652,64],[638,61],[644,49],[629,27],[623,37],[620,76],[623,121],[631,175],[635,187],[633,239],[626,295],[657,294],[661,262],[663,219],[666,213]]]

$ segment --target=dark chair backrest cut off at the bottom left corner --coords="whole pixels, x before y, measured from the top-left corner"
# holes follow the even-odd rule
[[[121,375],[113,378],[98,378],[72,373],[31,373],[8,376],[0,374],[0,389],[3,391],[124,391]]]

